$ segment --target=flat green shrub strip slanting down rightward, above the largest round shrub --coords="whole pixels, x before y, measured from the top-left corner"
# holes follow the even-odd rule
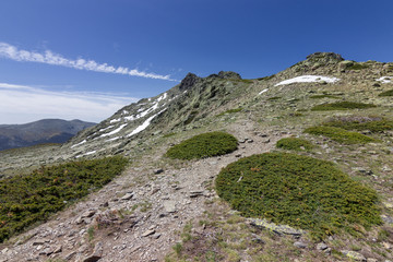
[[[342,144],[365,144],[378,142],[378,140],[358,132],[347,131],[335,127],[312,127],[305,130],[305,133],[323,135]]]

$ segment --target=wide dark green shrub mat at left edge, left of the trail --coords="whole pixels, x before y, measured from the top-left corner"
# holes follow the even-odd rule
[[[0,180],[0,242],[102,188],[127,163],[121,156],[71,162]]]

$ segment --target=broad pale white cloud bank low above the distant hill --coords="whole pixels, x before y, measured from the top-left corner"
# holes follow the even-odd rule
[[[0,83],[0,124],[45,118],[99,122],[138,98],[105,93],[52,92]]]

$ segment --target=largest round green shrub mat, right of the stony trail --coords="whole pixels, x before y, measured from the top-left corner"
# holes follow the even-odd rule
[[[381,224],[377,193],[334,164],[287,153],[241,158],[223,168],[216,191],[247,217],[309,230],[321,239]]]

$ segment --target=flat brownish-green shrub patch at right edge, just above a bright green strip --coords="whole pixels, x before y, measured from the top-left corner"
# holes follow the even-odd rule
[[[360,117],[346,116],[334,117],[324,122],[323,126],[342,128],[345,130],[369,130],[371,132],[382,132],[384,130],[393,130],[393,121],[383,119],[381,117]]]

